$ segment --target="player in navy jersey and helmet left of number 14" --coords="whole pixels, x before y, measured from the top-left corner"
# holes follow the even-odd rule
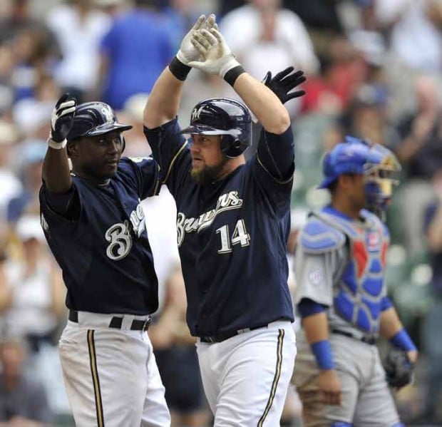
[[[146,333],[158,283],[140,207],[159,171],[152,158],[120,158],[130,128],[105,103],[63,95],[43,164],[41,224],[67,287],[59,350],[77,426],[170,426]]]

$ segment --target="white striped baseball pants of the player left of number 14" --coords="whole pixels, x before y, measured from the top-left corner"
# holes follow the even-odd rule
[[[121,316],[121,315],[116,315]],[[76,425],[168,427],[170,414],[145,331],[108,327],[112,314],[78,312],[59,343],[63,378]]]

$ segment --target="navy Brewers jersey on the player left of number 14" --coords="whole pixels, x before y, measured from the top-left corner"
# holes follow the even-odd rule
[[[158,194],[153,158],[122,158],[107,185],[73,175],[66,215],[41,186],[41,223],[63,270],[66,306],[84,312],[144,315],[158,309],[158,281],[140,200]],[[53,206],[53,205],[52,205]]]

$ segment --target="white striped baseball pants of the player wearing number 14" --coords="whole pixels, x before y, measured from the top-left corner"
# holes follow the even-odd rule
[[[289,321],[196,345],[215,427],[279,426],[297,352]]]

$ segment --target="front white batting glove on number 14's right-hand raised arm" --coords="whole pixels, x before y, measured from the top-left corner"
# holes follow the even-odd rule
[[[218,74],[224,78],[227,71],[240,66],[235,59],[225,38],[216,28],[194,31],[190,42],[195,46],[204,61],[191,61],[188,66],[198,68],[209,74]]]

